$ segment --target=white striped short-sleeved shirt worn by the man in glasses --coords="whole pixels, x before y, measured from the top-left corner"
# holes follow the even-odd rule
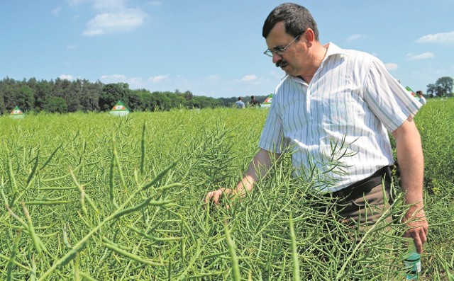
[[[292,149],[294,176],[333,192],[392,165],[387,130],[420,107],[380,59],[330,43],[309,84],[294,76],[279,83],[259,147]]]

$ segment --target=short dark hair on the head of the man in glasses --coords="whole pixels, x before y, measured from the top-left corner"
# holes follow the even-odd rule
[[[272,28],[276,23],[283,21],[285,24],[285,32],[293,37],[297,37],[304,33],[307,28],[314,31],[316,41],[319,41],[319,28],[314,18],[312,18],[309,10],[294,3],[280,4],[274,8],[267,16],[265,23],[263,23],[262,36],[267,38]]]

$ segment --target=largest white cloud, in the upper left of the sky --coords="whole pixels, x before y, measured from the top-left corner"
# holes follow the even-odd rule
[[[142,25],[146,13],[128,8],[120,13],[99,13],[87,23],[83,35],[93,36],[125,32]]]

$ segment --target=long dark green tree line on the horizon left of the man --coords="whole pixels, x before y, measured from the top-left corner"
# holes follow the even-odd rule
[[[260,102],[266,96],[256,96]],[[72,113],[77,111],[109,111],[121,101],[132,111],[170,110],[172,108],[230,107],[238,98],[195,96],[190,91],[132,90],[126,83],[103,84],[87,79],[50,81],[35,78],[16,81],[9,77],[0,81],[0,114],[18,106],[25,112]],[[245,97],[248,102],[250,98]]]

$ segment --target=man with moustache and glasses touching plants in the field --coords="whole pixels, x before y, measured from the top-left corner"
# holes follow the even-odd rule
[[[393,164],[389,130],[396,140],[404,198],[411,205],[404,217],[409,229],[405,235],[414,239],[421,253],[428,223],[423,210],[421,139],[412,118],[421,104],[376,57],[333,43],[321,45],[316,22],[302,6],[277,6],[267,17],[262,35],[268,47],[265,55],[287,76],[276,88],[260,150],[245,176],[235,189],[207,193],[205,203],[217,204],[222,195],[240,196],[252,190],[273,160],[290,148],[295,176],[318,170],[324,178],[317,188],[326,195],[389,207],[381,181],[386,167]],[[341,144],[338,153],[346,155],[338,166],[330,162],[332,144]],[[341,214],[346,220],[376,219],[367,216],[364,204],[351,205],[357,209]]]

